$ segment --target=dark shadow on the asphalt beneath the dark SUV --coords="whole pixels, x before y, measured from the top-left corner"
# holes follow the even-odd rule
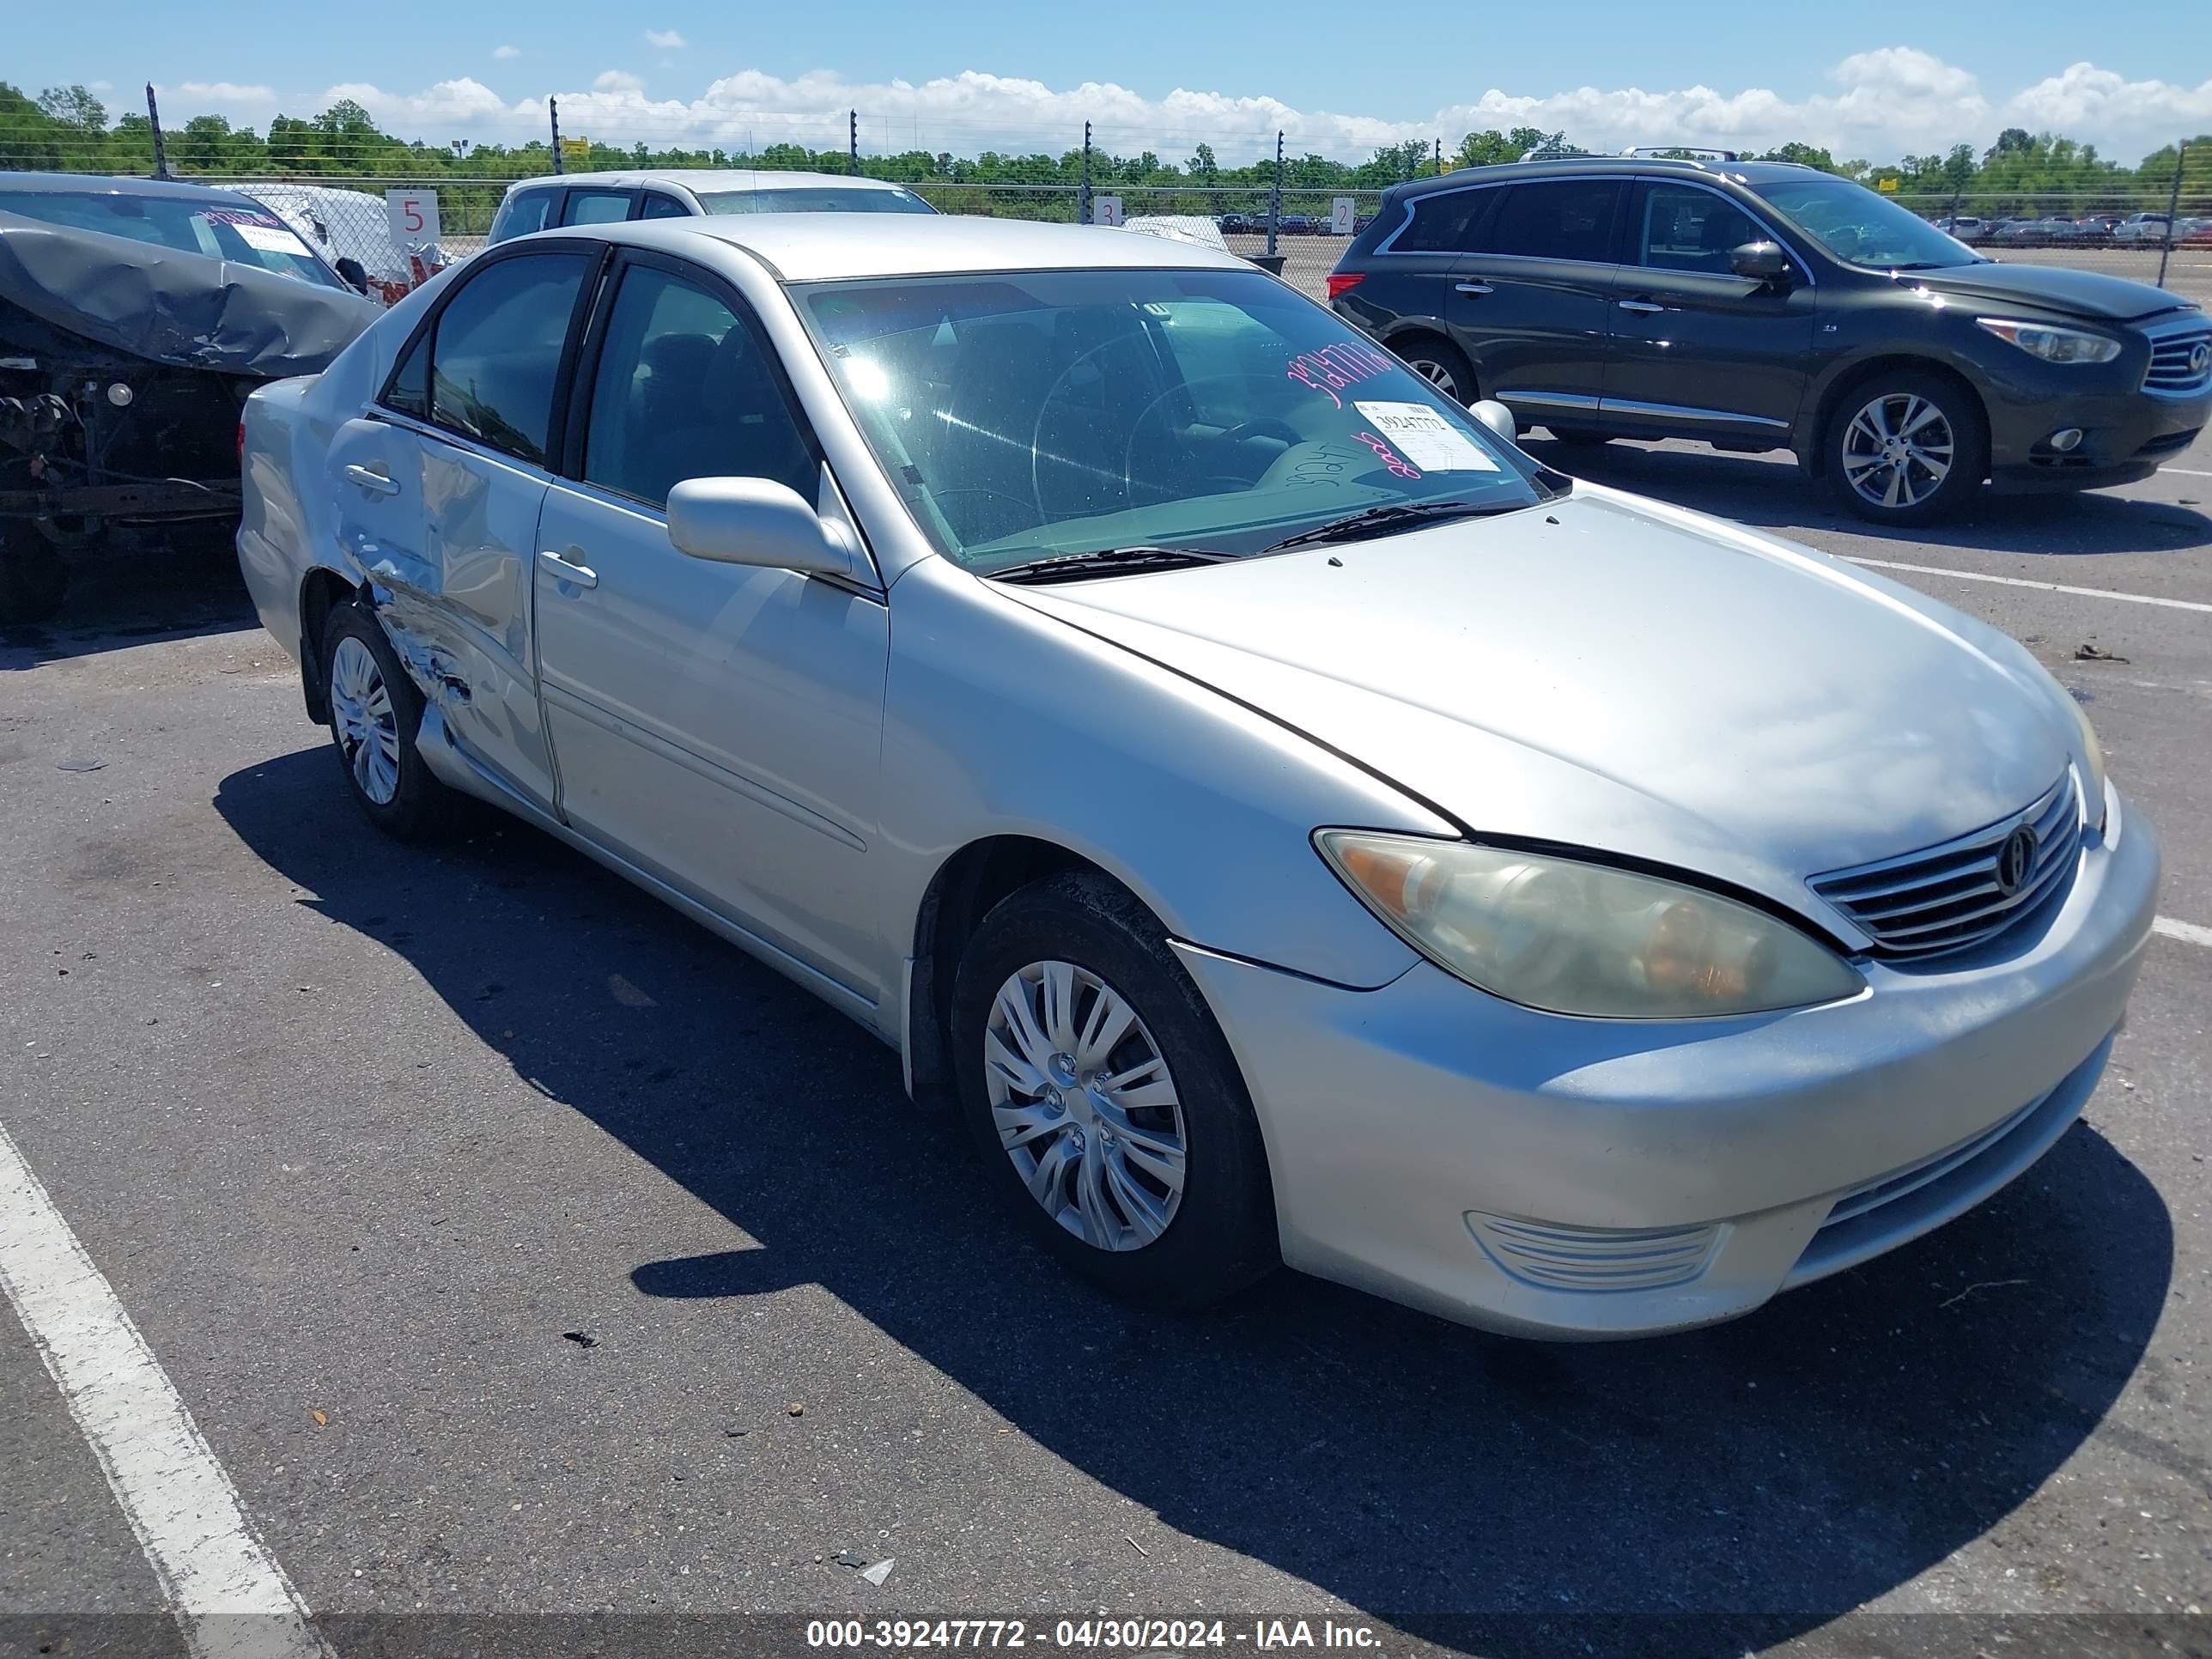
[[[1847,513],[1827,480],[1803,478],[1787,453],[1730,456],[1719,449],[1652,449],[1637,442],[1571,447],[1548,436],[1531,436],[1524,447],[1546,467],[1573,478],[1783,535],[1818,529],[1898,546],[1978,553],[2183,553],[2212,546],[2212,515],[2197,507],[2101,489],[2059,495],[1984,491],[1955,520],[1898,529]],[[2212,500],[2212,487],[2201,493]]]

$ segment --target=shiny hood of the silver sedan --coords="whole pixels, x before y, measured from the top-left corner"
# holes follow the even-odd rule
[[[1374,542],[1002,591],[1478,836],[1697,869],[1798,909],[1807,876],[2017,812],[2079,741],[2006,635],[1590,484]]]

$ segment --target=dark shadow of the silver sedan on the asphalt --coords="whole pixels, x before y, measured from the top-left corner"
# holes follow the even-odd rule
[[[440,849],[385,843],[323,745],[230,774],[215,807],[533,1088],[759,1241],[611,1276],[701,1318],[823,1285],[1164,1526],[1411,1635],[1743,1652],[1989,1533],[2062,1573],[2020,1511],[2090,1436],[2212,1482],[2106,1422],[2172,1230],[2086,1126],[1936,1237],[1708,1332],[1504,1340],[1292,1274],[1161,1316],[1031,1248],[874,1037],[549,836],[484,816]],[[650,1006],[611,998],[617,975]],[[1683,1615],[1736,1624],[1659,1632]]]

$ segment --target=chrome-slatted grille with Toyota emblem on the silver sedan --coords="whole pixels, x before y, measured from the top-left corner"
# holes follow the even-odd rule
[[[2035,856],[2011,894],[1997,878],[2004,843],[2035,830]],[[2026,812],[1940,847],[1812,878],[1812,889],[1874,940],[1876,956],[1962,951],[1995,938],[2066,889],[2081,852],[2081,805],[2068,770]]]

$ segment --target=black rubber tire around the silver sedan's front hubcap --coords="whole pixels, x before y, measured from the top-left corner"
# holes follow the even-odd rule
[[[1141,1022],[1135,1040],[1150,1040],[1168,1066],[1181,1113],[1183,1183],[1166,1230],[1148,1243],[1108,1250],[1071,1232],[1031,1194],[1000,1144],[984,1060],[991,1011],[1000,987],[1040,962],[1071,962],[1110,987]],[[960,958],[951,1013],[960,1115],[984,1179],[1062,1263],[1113,1294],[1166,1307],[1221,1301],[1276,1267],[1267,1152],[1243,1075],[1159,920],[1124,887],[1068,872],[1000,900]],[[1099,1135],[1102,1124],[1093,1119],[1091,1133]],[[1113,1144],[1110,1133],[1104,1139]],[[1068,1181],[1077,1179],[1071,1170]],[[1113,1214],[1128,1214],[1119,1199],[1110,1201]]]

